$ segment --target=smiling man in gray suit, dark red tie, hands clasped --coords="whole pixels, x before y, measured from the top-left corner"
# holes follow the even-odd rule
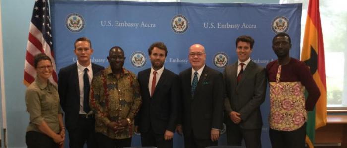
[[[238,61],[228,65],[223,72],[226,86],[224,122],[228,145],[240,146],[244,139],[247,148],[261,148],[260,105],[265,100],[267,82],[265,69],[250,58],[253,44],[254,39],[250,36],[238,37]]]

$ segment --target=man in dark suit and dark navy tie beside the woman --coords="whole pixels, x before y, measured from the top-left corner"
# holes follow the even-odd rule
[[[75,41],[77,62],[60,69],[58,92],[65,112],[65,125],[69,133],[70,148],[96,148],[94,113],[89,107],[89,88],[93,75],[104,67],[91,63],[92,44],[86,37]]]

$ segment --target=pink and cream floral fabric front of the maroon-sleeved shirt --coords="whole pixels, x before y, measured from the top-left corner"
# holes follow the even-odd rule
[[[277,70],[276,82],[270,82],[270,128],[293,131],[307,119],[305,87],[301,82],[280,82],[280,75],[281,65]]]

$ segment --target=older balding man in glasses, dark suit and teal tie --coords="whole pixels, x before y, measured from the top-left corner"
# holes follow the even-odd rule
[[[205,65],[204,46],[189,48],[191,68],[182,71],[182,126],[185,148],[216,146],[222,129],[224,85],[222,73]]]

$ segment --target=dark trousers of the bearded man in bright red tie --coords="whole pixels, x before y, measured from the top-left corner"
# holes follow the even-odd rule
[[[163,134],[155,134],[150,128],[148,132],[141,133],[143,147],[173,148],[173,139],[165,140]]]

